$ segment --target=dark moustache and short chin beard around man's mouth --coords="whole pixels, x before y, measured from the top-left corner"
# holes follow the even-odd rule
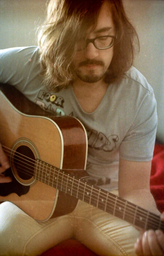
[[[104,67],[104,63],[102,61],[96,61],[96,60],[83,61],[78,65],[78,67],[89,65],[89,64],[90,65],[95,64],[95,65],[100,65],[100,66]],[[77,68],[76,75],[78,78],[80,78],[84,82],[95,83],[95,82],[100,81],[105,76],[106,71],[107,71],[107,69],[103,70],[102,73],[100,73],[100,74],[96,74],[95,70],[91,69],[91,70],[88,70],[87,74],[85,74],[84,72],[82,72],[80,69]]]

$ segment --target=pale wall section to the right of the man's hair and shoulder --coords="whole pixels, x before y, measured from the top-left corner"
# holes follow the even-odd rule
[[[141,50],[134,65],[154,89],[158,112],[157,138],[164,143],[164,1],[124,2],[140,40]]]

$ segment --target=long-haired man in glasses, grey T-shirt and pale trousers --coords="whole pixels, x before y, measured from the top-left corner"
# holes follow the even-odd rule
[[[149,188],[156,102],[130,68],[135,35],[121,0],[51,0],[39,49],[2,50],[0,81],[53,114],[78,117],[88,135],[88,182],[159,215]],[[58,100],[52,104],[48,95]],[[0,161],[2,173],[9,166],[2,148]],[[43,223],[4,202],[0,219],[0,255],[38,255],[70,237],[99,255],[164,255],[161,231],[139,236],[126,221],[82,201]]]

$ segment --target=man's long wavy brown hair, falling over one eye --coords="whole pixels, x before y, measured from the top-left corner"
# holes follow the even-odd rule
[[[50,89],[59,91],[73,81],[75,70],[72,59],[76,41],[85,35],[91,25],[96,24],[104,1],[110,4],[117,31],[114,54],[105,81],[119,81],[131,67],[135,45],[139,50],[139,41],[135,28],[128,21],[122,0],[50,0],[47,18],[38,37],[42,73]]]

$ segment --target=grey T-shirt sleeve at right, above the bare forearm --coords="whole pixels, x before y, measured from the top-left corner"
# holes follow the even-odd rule
[[[156,100],[152,91],[143,99],[135,120],[120,145],[120,158],[129,161],[152,160],[157,122]]]

